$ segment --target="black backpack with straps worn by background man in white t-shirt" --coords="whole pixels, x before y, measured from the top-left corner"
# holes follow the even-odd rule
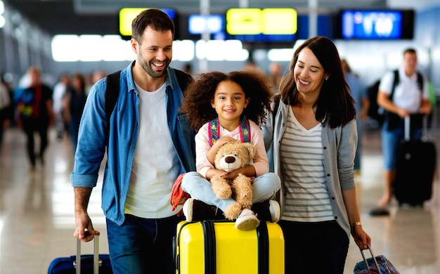
[[[389,98],[392,100],[394,96],[394,89],[399,84],[399,70],[394,70],[394,80],[391,93]],[[420,92],[423,92],[423,77],[420,72],[417,72],[417,83]],[[368,117],[375,119],[381,126],[385,119],[385,111],[377,105],[377,93],[379,92],[380,80],[375,81],[375,83],[368,88],[368,99],[370,100],[370,107],[368,108]]]

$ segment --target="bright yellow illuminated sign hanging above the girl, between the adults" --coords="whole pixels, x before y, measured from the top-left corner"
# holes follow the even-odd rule
[[[294,8],[231,8],[226,12],[226,31],[232,35],[295,34]]]

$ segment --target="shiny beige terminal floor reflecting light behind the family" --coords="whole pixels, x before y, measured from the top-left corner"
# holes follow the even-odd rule
[[[438,135],[432,131],[431,136]],[[390,216],[370,216],[368,212],[375,207],[383,189],[380,135],[374,130],[365,131],[363,141],[358,199],[363,228],[373,238],[375,255],[387,256],[403,274],[440,273],[438,179],[434,183],[434,197],[424,208],[393,205]],[[439,148],[438,141],[436,145]],[[37,170],[31,172],[25,156],[24,134],[9,129],[0,159],[0,273],[47,273],[54,258],[70,256],[76,250],[72,237],[75,221],[69,179],[70,143],[66,139],[56,141],[55,133],[51,132],[46,164],[37,165]],[[100,251],[108,253],[99,185],[93,190],[89,214],[95,228],[101,231]],[[83,244],[82,249],[91,253],[93,244]],[[354,265],[361,260],[351,239],[344,273],[353,273]]]

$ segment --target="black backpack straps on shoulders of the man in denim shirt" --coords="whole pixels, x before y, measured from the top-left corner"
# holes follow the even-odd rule
[[[173,70],[176,73],[177,81],[182,92],[185,93],[186,87],[193,81],[193,77],[181,70]],[[110,119],[110,115],[112,115],[113,109],[115,109],[117,98],[119,97],[120,75],[120,70],[107,75],[107,89],[105,90],[105,115],[107,116],[107,121]]]

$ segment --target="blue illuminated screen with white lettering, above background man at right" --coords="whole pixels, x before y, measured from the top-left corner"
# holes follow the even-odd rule
[[[342,12],[344,39],[401,39],[402,27],[401,11]]]

